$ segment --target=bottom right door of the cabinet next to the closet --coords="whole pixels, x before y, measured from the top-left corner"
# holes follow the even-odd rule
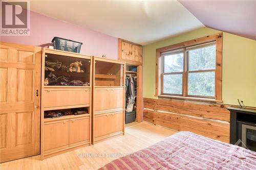
[[[123,130],[123,112],[119,112],[119,113],[113,113],[110,114],[108,117],[109,120],[109,125],[110,127],[110,132],[114,133],[114,132],[118,132]]]

